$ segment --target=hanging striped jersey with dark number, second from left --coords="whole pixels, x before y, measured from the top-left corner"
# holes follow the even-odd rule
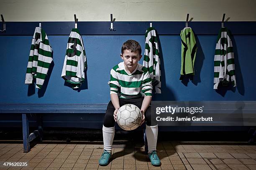
[[[84,82],[84,70],[86,67],[87,60],[82,36],[77,28],[73,28],[67,43],[61,77],[71,83],[72,88],[79,88]]]

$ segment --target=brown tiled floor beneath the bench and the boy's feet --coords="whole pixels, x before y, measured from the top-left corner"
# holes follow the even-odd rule
[[[102,143],[95,142],[44,143],[23,153],[22,144],[0,143],[0,170],[256,170],[256,145],[161,142],[157,145],[161,167],[150,164],[142,143],[115,144],[112,162],[99,166],[102,147]]]

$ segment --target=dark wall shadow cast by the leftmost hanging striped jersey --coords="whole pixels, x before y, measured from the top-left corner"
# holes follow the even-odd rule
[[[53,52],[52,52],[52,58],[53,58]],[[54,61],[51,62],[51,65],[50,65],[49,70],[47,72],[47,76],[46,76],[46,79],[44,80],[44,84],[43,84],[42,88],[38,89],[38,92],[37,92],[38,98],[43,97],[45,92],[46,92],[46,88],[48,86],[53,67],[54,67]],[[31,96],[31,95],[34,95],[36,93],[35,81],[36,81],[36,79],[33,79],[33,83],[28,85],[28,95],[27,96]]]

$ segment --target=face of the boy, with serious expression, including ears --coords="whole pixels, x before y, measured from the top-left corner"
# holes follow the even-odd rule
[[[131,50],[123,50],[123,54],[120,54],[126,67],[132,69],[137,67],[137,63],[141,60],[142,55],[139,55],[138,50],[131,52]]]

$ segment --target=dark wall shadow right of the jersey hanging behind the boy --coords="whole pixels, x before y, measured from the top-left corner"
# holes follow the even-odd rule
[[[165,78],[165,70],[164,70],[164,59],[163,59],[163,52],[161,48],[161,42],[159,41],[159,37],[157,37],[159,52],[160,52],[160,69],[161,69],[161,94],[156,94],[155,89],[153,89],[153,100],[155,101],[170,101],[176,100],[174,93],[172,90],[166,86],[166,78]]]

